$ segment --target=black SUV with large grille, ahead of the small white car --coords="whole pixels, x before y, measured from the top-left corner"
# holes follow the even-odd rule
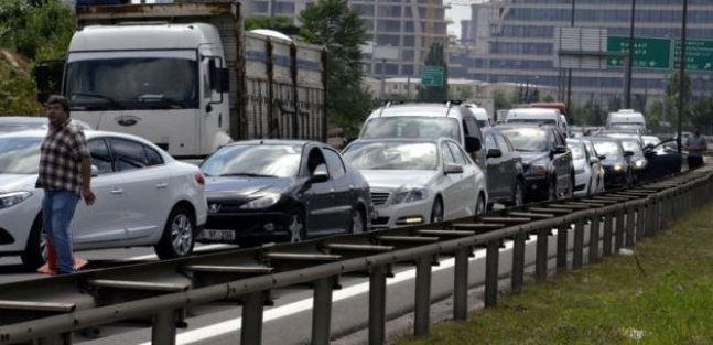
[[[497,126],[522,158],[526,200],[571,197],[574,192],[572,152],[555,126]]]

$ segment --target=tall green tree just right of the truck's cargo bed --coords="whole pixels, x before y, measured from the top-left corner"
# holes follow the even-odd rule
[[[327,119],[347,130],[358,128],[374,100],[361,86],[364,21],[346,0],[318,0],[300,13],[300,35],[328,51]]]

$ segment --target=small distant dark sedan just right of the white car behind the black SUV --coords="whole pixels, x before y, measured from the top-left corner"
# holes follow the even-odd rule
[[[629,187],[634,183],[634,170],[629,158],[631,151],[625,151],[622,140],[608,137],[587,138],[593,144],[596,153],[603,155],[601,160],[604,166],[604,188]]]

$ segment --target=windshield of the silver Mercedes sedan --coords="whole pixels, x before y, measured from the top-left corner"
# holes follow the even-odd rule
[[[432,142],[355,142],[343,153],[358,170],[436,170]]]

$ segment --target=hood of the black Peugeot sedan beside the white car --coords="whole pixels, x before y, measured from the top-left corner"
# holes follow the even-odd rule
[[[205,181],[206,196],[249,196],[260,192],[281,192],[294,179],[280,177],[208,177]]]

